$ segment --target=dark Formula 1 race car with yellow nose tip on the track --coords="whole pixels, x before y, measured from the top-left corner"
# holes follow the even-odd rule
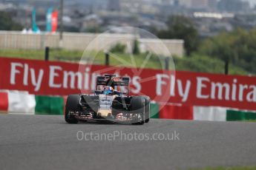
[[[148,123],[151,100],[148,96],[129,96],[129,81],[129,78],[117,78],[115,75],[100,76],[96,79],[93,95],[69,95],[65,109],[66,122]],[[126,92],[117,90],[124,87]]]

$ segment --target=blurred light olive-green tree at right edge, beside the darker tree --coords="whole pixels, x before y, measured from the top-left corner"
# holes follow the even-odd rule
[[[220,33],[200,43],[197,53],[229,61],[251,74],[256,74],[256,29],[237,29],[231,33]]]

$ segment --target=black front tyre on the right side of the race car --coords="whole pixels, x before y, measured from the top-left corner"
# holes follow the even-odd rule
[[[136,96],[131,98],[131,112],[134,113],[142,113],[142,120],[137,123],[133,123],[134,125],[143,125],[145,123],[145,98],[141,96]]]

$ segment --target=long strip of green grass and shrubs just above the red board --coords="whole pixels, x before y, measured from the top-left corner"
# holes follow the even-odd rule
[[[59,50],[50,49],[50,61],[72,61],[79,62],[83,55],[83,51],[79,50]],[[87,62],[93,64],[105,64],[104,52],[89,52],[86,53]],[[164,58],[158,58],[157,55],[151,55],[151,58],[143,65],[147,58],[148,53],[140,55],[134,55],[134,61],[131,55],[127,53],[114,53],[111,55],[111,66],[120,67],[144,67],[151,69],[163,69]],[[0,50],[1,57],[13,57],[13,58],[27,58],[44,60],[45,50]],[[94,58],[95,56],[95,58]],[[116,57],[118,56],[118,58]],[[221,73],[224,72],[224,63],[217,58],[210,58],[209,56],[202,56],[194,54],[191,57],[178,58],[174,56],[174,65],[176,70],[191,71],[191,72],[211,72]],[[170,61],[170,66],[174,66]],[[229,74],[231,75],[248,75],[244,69],[240,67],[229,67]]]

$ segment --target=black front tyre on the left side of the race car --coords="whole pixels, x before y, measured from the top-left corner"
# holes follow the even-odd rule
[[[65,120],[67,123],[75,124],[78,123],[78,120],[70,115],[70,112],[78,112],[79,111],[79,95],[68,95],[68,100],[66,103],[65,109]]]

